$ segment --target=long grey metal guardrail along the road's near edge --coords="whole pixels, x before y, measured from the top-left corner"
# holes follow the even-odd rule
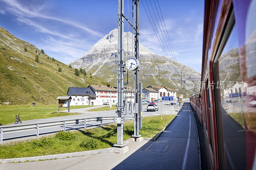
[[[49,121],[49,122],[29,123],[29,124],[20,124],[20,125],[12,125],[12,126],[2,126],[2,127],[0,127],[0,143],[3,143],[3,133],[4,132],[36,129],[36,134],[35,135],[36,135],[36,137],[38,137],[39,136],[39,128],[63,125],[63,131],[66,131],[66,125],[67,124],[84,123],[83,128],[86,128],[86,122],[98,122],[98,121],[100,121],[100,125],[102,126],[102,121],[103,120],[113,120],[113,123],[115,123],[115,119],[116,119],[116,117],[92,117],[92,118],[87,118],[87,119],[84,119],[84,118],[67,119],[67,120],[59,120],[59,121]],[[133,120],[133,117],[124,117],[124,121],[125,121],[125,119],[126,120]],[[57,123],[57,124],[50,124],[50,123]],[[16,128],[16,129],[14,129],[14,128]],[[75,129],[79,129],[79,128],[75,128]],[[52,132],[55,132],[55,131],[52,131]],[[23,137],[23,136],[17,136],[17,137]]]

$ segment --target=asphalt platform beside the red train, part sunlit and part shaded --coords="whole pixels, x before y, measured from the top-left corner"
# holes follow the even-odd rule
[[[125,154],[96,155],[0,164],[0,169],[199,169],[196,123],[185,103],[156,141],[131,142]]]

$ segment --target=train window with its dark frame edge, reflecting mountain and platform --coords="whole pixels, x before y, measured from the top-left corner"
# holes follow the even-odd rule
[[[224,146],[222,147],[224,150],[222,150],[225,152],[225,159],[224,157],[222,159],[225,160],[226,169],[245,169],[243,82],[240,74],[239,32],[234,12],[230,18],[223,32],[219,52],[213,62],[216,122],[219,128],[217,133],[224,137],[218,138],[218,144]],[[241,89],[240,92],[238,89]],[[221,148],[219,148],[219,154],[223,153],[220,150]]]

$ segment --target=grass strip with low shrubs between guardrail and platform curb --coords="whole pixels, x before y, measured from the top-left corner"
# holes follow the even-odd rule
[[[143,117],[143,128],[139,130],[139,134],[141,134],[142,137],[154,137],[173,118],[174,115],[171,117],[164,116],[161,121],[161,116]],[[124,122],[124,140],[131,137],[133,128],[133,121]],[[71,140],[62,140],[56,135],[51,135],[47,138],[40,138],[38,140],[2,144],[0,145],[0,158],[31,157],[103,149],[112,147],[113,144],[116,143],[116,124],[108,124],[94,129],[81,129],[71,133],[73,134],[71,135],[75,137]],[[70,134],[68,137],[70,137]],[[84,141],[86,139],[87,141]],[[83,146],[81,146],[82,142]]]

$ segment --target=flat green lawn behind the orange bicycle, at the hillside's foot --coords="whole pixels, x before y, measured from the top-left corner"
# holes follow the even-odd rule
[[[91,106],[83,106],[91,107]],[[82,106],[70,106],[70,109],[82,108]],[[60,108],[61,110],[67,110],[67,107]],[[3,125],[14,123],[15,116],[20,115],[21,121],[32,119],[43,119],[50,117],[60,117],[69,115],[79,115],[79,113],[58,113],[58,104],[55,105],[2,105],[0,106],[0,122]]]

